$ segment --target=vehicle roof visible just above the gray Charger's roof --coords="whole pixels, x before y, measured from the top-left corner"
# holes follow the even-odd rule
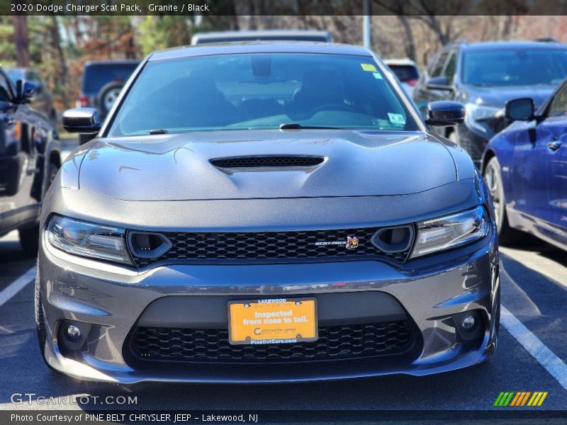
[[[316,30],[250,30],[250,31],[210,31],[196,33],[191,38],[191,45],[211,42],[232,41],[322,41],[331,42],[329,31]]]

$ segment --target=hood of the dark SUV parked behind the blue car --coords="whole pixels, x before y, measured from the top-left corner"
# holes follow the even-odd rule
[[[537,108],[541,103],[544,103],[554,89],[555,86],[474,87],[469,92],[468,101],[504,108],[507,101],[529,97],[534,100]]]

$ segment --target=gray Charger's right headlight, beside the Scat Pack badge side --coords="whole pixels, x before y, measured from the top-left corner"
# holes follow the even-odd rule
[[[490,223],[485,209],[473,210],[417,223],[417,242],[411,258],[456,248],[485,237]]]

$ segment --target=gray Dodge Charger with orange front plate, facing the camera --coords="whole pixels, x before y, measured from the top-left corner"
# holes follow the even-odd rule
[[[427,375],[494,353],[493,206],[362,47],[155,52],[43,205],[35,316],[50,368],[133,383]]]

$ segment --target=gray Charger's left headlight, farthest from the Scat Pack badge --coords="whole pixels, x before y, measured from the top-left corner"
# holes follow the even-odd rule
[[[69,254],[132,264],[125,230],[54,215],[47,225],[47,241]]]

